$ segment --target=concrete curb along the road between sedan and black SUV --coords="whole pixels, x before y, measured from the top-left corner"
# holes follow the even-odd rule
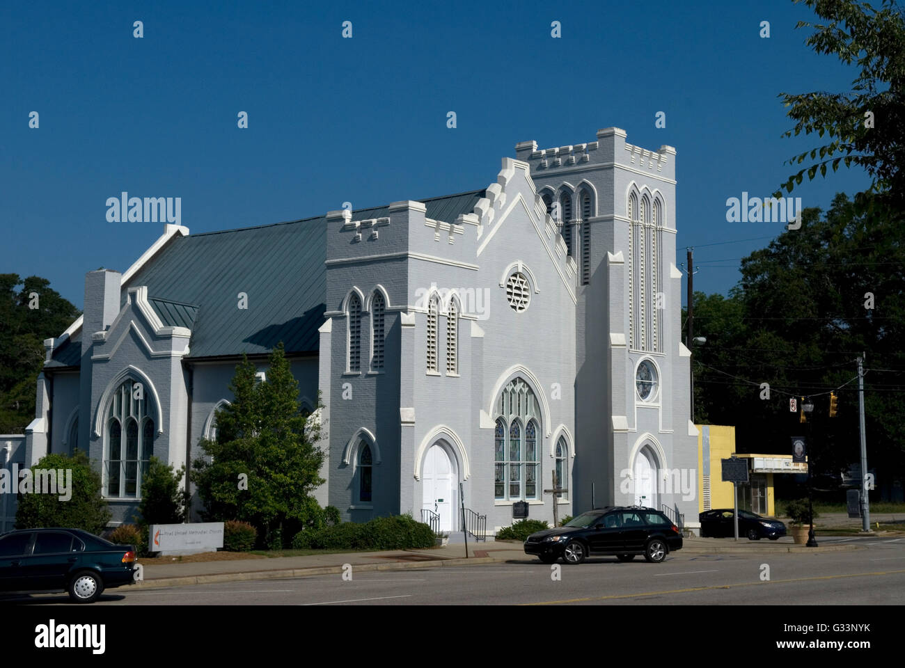
[[[352,565],[353,573],[379,571],[379,570],[407,570],[409,568],[437,568],[449,566],[478,566],[480,564],[495,564],[508,561],[500,557],[472,557],[456,559],[433,559],[431,561],[394,561],[387,564],[358,564]],[[133,591],[140,589],[160,589],[164,587],[189,587],[192,585],[210,585],[215,582],[242,582],[243,580],[277,580],[286,577],[306,577],[316,575],[331,575],[343,572],[342,566],[314,566],[310,568],[280,568],[278,570],[250,570],[241,573],[214,573],[212,575],[183,576],[183,577],[156,577],[150,580],[142,580],[129,587],[135,587]]]

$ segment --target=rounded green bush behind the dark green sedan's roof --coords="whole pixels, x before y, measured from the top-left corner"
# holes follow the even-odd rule
[[[71,498],[65,501],[58,494],[20,494],[15,528],[67,527],[100,535],[110,521],[110,510],[100,496],[100,473],[91,466],[88,455],[81,450],[71,457],[48,454],[32,471],[38,469],[71,471]]]

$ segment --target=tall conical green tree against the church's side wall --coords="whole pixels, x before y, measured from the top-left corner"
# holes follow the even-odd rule
[[[257,382],[255,371],[248,358],[236,367],[234,401],[217,411],[216,440],[201,441],[210,459],[195,460],[194,480],[205,518],[251,522],[271,545],[310,522],[324,453],[317,447],[319,412],[302,415],[282,343],[271,353],[267,380]]]

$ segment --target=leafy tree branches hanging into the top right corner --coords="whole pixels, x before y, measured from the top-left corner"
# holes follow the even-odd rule
[[[805,172],[809,180],[826,168],[835,171],[859,165],[872,177],[868,191],[878,197],[862,196],[860,204],[887,205],[900,215],[905,201],[905,107],[902,86],[905,83],[905,21],[892,0],[882,0],[882,8],[852,0],[793,0],[804,2],[826,24],[800,21],[797,28],[814,28],[805,43],[815,52],[834,53],[846,65],[856,62],[861,68],[852,82],[853,91],[831,93],[812,91],[800,94],[781,93],[788,116],[795,128],[785,137],[814,132],[828,135],[824,146],[805,151],[788,162],[801,165],[808,159],[810,167],[789,177],[786,190],[791,193],[802,182]],[[819,154],[819,157],[818,157]],[[778,197],[782,190],[776,192]]]

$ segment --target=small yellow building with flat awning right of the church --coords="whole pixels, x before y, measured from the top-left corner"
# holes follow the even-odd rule
[[[698,427],[698,511],[734,506],[731,482],[722,482],[721,460],[735,452],[735,427]],[[748,483],[738,485],[738,508],[772,517],[776,512],[773,493],[775,473],[806,473],[807,463],[792,461],[791,454],[738,454],[748,460]]]

